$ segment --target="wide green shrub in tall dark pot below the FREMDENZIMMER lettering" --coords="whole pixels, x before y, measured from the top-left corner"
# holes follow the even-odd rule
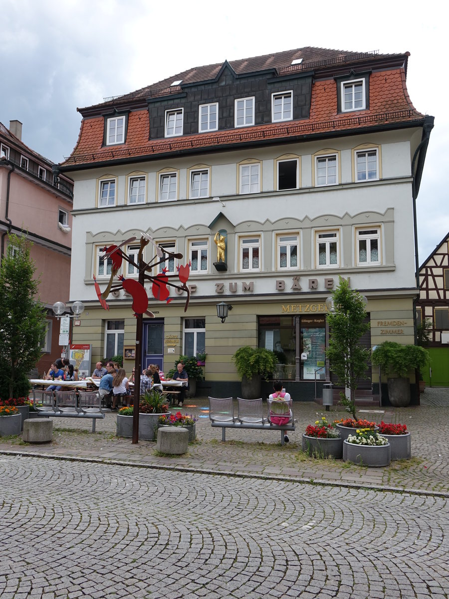
[[[371,362],[380,366],[387,375],[389,400],[392,406],[405,407],[410,403],[409,371],[423,368],[429,361],[429,352],[418,345],[401,345],[384,341],[372,352]],[[395,375],[389,377],[388,375]]]

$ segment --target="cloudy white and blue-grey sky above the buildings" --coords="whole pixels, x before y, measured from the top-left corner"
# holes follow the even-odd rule
[[[408,51],[409,96],[417,110],[435,116],[418,195],[421,264],[449,231],[447,15],[438,6],[444,3],[3,2],[0,122],[20,120],[24,143],[62,162],[77,142],[77,107],[193,66],[304,46]]]

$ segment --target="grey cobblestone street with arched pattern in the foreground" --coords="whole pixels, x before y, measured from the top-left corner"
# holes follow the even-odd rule
[[[449,593],[444,497],[11,455],[0,480],[2,599]]]

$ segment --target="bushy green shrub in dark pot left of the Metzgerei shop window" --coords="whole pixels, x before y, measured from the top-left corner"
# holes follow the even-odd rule
[[[257,400],[262,393],[262,377],[268,380],[278,363],[275,353],[264,347],[247,345],[239,347],[232,361],[242,379],[242,399]]]

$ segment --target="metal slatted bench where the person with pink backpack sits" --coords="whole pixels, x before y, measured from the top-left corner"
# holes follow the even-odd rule
[[[269,406],[270,406],[270,400]],[[293,418],[292,400],[275,401],[277,404],[268,408],[268,415],[263,416],[262,399],[243,400],[237,398],[238,415],[234,416],[232,397],[219,399],[209,398],[209,419],[213,427],[222,428],[222,441],[226,441],[227,428],[255,428],[263,431],[281,431],[281,444],[284,444],[284,432],[295,430],[295,418]],[[274,416],[289,416],[289,422],[278,425],[271,422]]]

